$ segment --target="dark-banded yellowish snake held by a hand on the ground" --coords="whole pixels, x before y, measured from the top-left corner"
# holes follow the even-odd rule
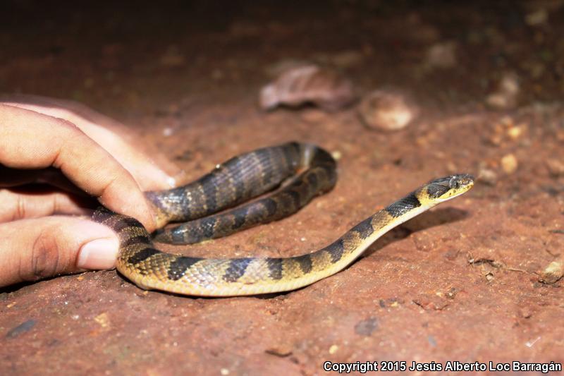
[[[469,174],[436,178],[353,226],[324,248],[294,257],[205,258],[166,253],[154,242],[198,243],[287,217],[336,184],[336,161],[317,145],[287,142],[240,154],[185,186],[145,196],[156,212],[149,234],[134,219],[99,207],[92,218],[119,238],[116,269],[137,286],[188,296],[292,291],[350,265],[394,227],[466,193]],[[185,222],[167,228],[171,222]]]

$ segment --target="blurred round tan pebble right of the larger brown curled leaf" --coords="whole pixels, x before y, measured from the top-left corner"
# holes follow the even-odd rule
[[[365,126],[380,131],[405,128],[417,113],[404,95],[384,90],[376,90],[365,96],[358,111]]]

